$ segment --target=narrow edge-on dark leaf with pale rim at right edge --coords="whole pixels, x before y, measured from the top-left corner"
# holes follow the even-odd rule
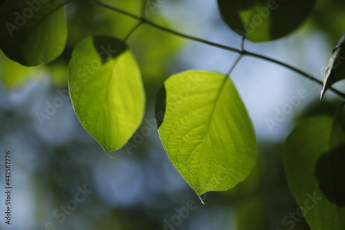
[[[324,84],[321,90],[320,98],[324,97],[324,93],[335,82],[345,79],[345,34],[339,39],[337,46],[331,54],[328,68],[324,76]]]

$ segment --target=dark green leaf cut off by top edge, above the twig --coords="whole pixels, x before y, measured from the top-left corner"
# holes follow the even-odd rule
[[[301,26],[315,0],[218,0],[228,26],[250,41],[279,39]]]

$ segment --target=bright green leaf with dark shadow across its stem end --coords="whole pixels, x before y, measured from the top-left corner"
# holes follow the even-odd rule
[[[81,41],[72,53],[68,86],[79,121],[107,153],[126,144],[141,124],[144,86],[124,41],[112,37]]]

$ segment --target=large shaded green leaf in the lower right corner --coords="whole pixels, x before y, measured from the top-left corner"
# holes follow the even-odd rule
[[[286,139],[286,178],[312,230],[345,228],[344,153],[344,132],[331,117],[308,119]]]

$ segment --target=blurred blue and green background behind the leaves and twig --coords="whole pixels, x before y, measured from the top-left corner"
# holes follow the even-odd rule
[[[139,0],[103,2],[140,13]],[[342,0],[317,0],[313,15],[292,35],[261,44],[246,41],[245,48],[322,80],[345,31],[344,12]],[[140,26],[128,45],[146,87],[146,119],[130,145],[111,158],[83,129],[66,97],[68,61],[84,37],[123,39],[136,21],[87,3],[68,4],[66,15],[68,44],[52,63],[28,68],[0,55],[0,181],[3,189],[4,155],[11,151],[13,187],[12,224],[1,220],[0,229],[309,229],[303,219],[290,221],[297,204],[286,184],[282,143],[299,120],[333,115],[338,97],[328,91],[319,102],[321,86],[282,66],[244,57],[230,77],[257,133],[257,164],[234,189],[204,195],[203,205],[168,160],[157,130],[150,128],[155,97],[170,75],[189,69],[227,73],[237,55]],[[148,0],[146,16],[166,28],[240,46],[241,38],[221,21],[216,0]],[[342,90],[344,84],[335,88]],[[63,104],[40,121],[38,114],[57,98]],[[299,103],[294,105],[293,98]]]

